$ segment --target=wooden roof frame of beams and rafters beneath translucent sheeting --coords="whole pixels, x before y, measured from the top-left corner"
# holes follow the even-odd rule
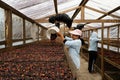
[[[103,11],[100,11],[100,10],[97,10],[95,8],[92,8],[92,7],[89,7],[89,6],[86,6],[86,3],[88,2],[89,0],[82,0],[81,3],[79,4],[78,7],[73,7],[71,9],[67,9],[67,10],[64,10],[64,11],[61,11],[61,12],[58,12],[58,8],[57,8],[57,0],[54,0],[54,7],[55,7],[55,12],[56,14],[58,13],[66,13],[66,12],[70,12],[72,10],[75,10],[76,11],[74,12],[73,16],[71,17],[73,19],[73,22],[75,23],[86,23],[86,24],[89,24],[89,23],[100,23],[100,22],[106,22],[106,23],[110,23],[110,22],[113,22],[113,23],[118,23],[120,22],[120,20],[118,20],[120,18],[120,16],[117,16],[117,15],[113,15],[112,13],[119,10],[120,9],[120,6],[116,7],[115,9],[109,11],[109,12],[103,12]],[[95,11],[95,12],[98,12],[98,13],[102,13],[103,15],[100,16],[99,18],[97,18],[96,20],[85,20],[85,19],[82,19],[82,20],[74,20],[74,18],[78,15],[78,13],[81,11],[81,16],[82,14],[84,13],[82,10],[82,8],[87,8],[87,9],[90,9],[92,11]],[[38,23],[47,23],[48,22],[48,18],[50,16],[53,16],[53,15],[56,15],[56,14],[52,14],[52,15],[48,15],[46,17],[43,17],[43,18],[40,18],[40,19],[36,19],[35,21],[38,22]],[[114,18],[118,18],[118,19],[104,19],[104,20],[101,20],[102,18],[104,18],[105,16],[112,16]],[[84,17],[83,17],[84,18]]]

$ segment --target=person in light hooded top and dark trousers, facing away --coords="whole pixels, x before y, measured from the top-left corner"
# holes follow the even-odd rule
[[[94,71],[94,63],[97,59],[97,48],[98,48],[98,38],[97,30],[94,30],[89,38],[89,62],[88,62],[88,71],[92,73]]]

